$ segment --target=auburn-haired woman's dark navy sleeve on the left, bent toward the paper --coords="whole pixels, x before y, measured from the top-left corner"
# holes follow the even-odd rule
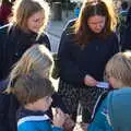
[[[62,33],[58,51],[60,78],[67,82],[80,84],[83,83],[85,73],[78,67],[75,58],[71,55],[74,48],[70,43],[71,35],[67,32],[66,29]]]

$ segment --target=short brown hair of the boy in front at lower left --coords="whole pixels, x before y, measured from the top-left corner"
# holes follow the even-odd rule
[[[12,88],[12,93],[22,105],[34,103],[45,96],[51,96],[53,91],[49,79],[35,73],[19,76]]]

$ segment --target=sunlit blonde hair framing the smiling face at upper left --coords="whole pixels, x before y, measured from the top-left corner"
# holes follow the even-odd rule
[[[15,0],[14,5],[12,7],[13,15],[11,22],[21,28],[26,29],[27,19],[39,11],[44,12],[44,25],[40,28],[44,29],[48,23],[49,16],[49,5],[44,0]]]

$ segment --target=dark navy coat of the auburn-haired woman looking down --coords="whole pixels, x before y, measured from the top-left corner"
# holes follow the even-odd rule
[[[71,23],[69,25],[72,25]],[[60,78],[76,85],[83,84],[86,74],[103,81],[106,62],[116,52],[118,52],[118,38],[115,33],[105,39],[95,37],[82,49],[74,43],[74,34],[66,28],[58,51]]]

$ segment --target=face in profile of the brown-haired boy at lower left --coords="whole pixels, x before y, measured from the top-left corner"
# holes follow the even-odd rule
[[[34,103],[37,110],[47,111],[52,103],[50,96],[45,96],[44,98],[38,99]]]

